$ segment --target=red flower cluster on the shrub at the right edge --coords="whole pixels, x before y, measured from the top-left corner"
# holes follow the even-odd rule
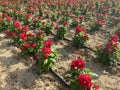
[[[118,36],[112,35],[109,42],[107,42],[105,46],[105,52],[106,53],[113,53],[116,50],[116,47],[118,46]]]

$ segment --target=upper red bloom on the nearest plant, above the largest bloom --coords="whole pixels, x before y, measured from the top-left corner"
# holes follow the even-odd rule
[[[71,68],[84,69],[85,62],[83,59],[75,59],[72,61]]]

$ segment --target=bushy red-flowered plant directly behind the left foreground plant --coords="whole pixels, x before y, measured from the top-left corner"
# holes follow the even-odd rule
[[[20,49],[24,54],[36,54],[39,52],[39,49],[42,48],[43,42],[45,40],[45,34],[43,31],[39,31],[36,36],[34,33],[27,33],[26,35],[21,35],[23,40],[21,40]],[[24,41],[24,38],[27,40]]]

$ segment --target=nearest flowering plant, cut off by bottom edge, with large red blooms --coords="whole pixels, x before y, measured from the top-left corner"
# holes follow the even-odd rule
[[[96,74],[85,68],[85,62],[82,58],[72,61],[70,74],[70,90],[98,90],[99,86],[93,83],[92,77]]]

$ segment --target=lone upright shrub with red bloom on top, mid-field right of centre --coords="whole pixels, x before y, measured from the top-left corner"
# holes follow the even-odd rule
[[[76,48],[81,48],[84,46],[85,42],[89,39],[88,34],[85,33],[81,26],[76,27],[76,34],[72,40],[73,45]]]

